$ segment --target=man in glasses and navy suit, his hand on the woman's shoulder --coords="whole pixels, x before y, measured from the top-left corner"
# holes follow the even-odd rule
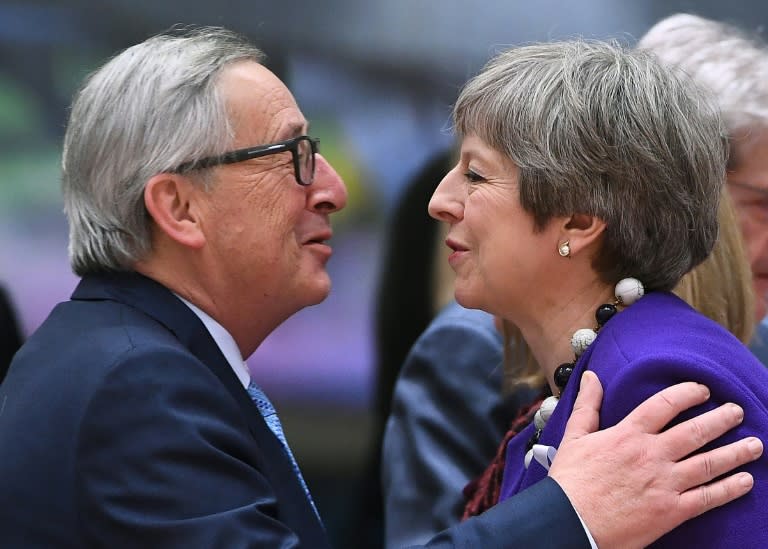
[[[346,191],[260,62],[225,30],[161,35],[79,92],[63,189],[82,281],[0,387],[3,547],[328,546],[243,357],[328,294]],[[658,434],[706,399],[683,384],[591,433],[600,396],[585,376],[550,478],[428,546],[642,545],[749,491],[702,485],[759,443],[684,459],[738,408]]]

